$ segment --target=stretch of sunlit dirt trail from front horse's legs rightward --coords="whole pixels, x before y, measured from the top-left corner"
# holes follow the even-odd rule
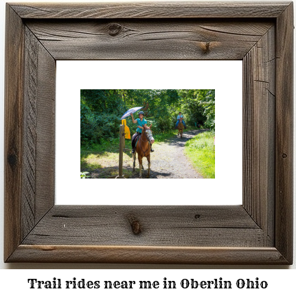
[[[187,157],[183,153],[185,142],[198,133],[206,130],[184,130],[183,138],[180,136],[172,137],[160,144],[154,144],[155,152],[151,153],[150,179],[202,179],[200,174],[194,170]],[[143,177],[146,177],[148,162],[144,158]],[[133,166],[133,163],[130,164]],[[130,179],[139,178],[139,161],[136,162],[136,174]]]

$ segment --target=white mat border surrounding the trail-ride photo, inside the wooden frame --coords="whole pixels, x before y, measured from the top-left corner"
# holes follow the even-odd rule
[[[242,204],[242,61],[65,60],[56,68],[56,204]],[[215,89],[215,179],[80,179],[80,89]],[[149,196],[130,194],[135,182],[149,184]]]

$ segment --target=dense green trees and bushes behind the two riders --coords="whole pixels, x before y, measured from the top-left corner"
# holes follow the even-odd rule
[[[80,91],[80,142],[93,146],[118,138],[120,117],[142,106],[153,132],[172,130],[181,111],[187,126],[215,127],[215,91],[199,89],[82,89]],[[137,113],[134,118],[137,118]],[[126,117],[133,135],[136,124]]]

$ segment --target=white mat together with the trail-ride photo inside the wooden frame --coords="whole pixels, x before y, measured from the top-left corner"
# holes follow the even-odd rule
[[[109,79],[120,71],[124,75]],[[58,60],[56,73],[56,205],[242,205],[241,60]],[[96,89],[98,86],[104,90]],[[215,87],[214,100],[214,91],[205,90],[211,87]],[[212,96],[207,95],[211,93]],[[102,99],[98,100],[100,95]],[[205,126],[203,106],[196,106],[196,101],[205,95],[216,109],[216,127],[211,131],[208,124]],[[92,104],[92,98],[98,102],[95,109],[88,104]],[[129,150],[122,153],[122,171],[128,180],[122,185],[117,180],[114,187],[109,178],[119,175],[120,117],[142,104],[149,105],[144,107],[145,118],[148,126],[152,124],[155,137],[155,152],[150,153],[150,180],[145,181],[146,158],[144,179],[139,179],[138,160],[133,170],[131,139],[126,139]],[[183,139],[173,130],[180,110],[188,124]],[[137,126],[130,115],[126,119],[132,138]],[[192,119],[198,119],[203,127],[193,127]],[[235,137],[225,137],[225,128]],[[104,133],[100,143],[93,139],[96,132]],[[194,135],[198,137],[193,138]],[[225,157],[230,150],[231,157]],[[187,157],[195,162],[189,162]],[[196,172],[196,163],[203,169]],[[77,179],[79,169],[89,173],[87,180]],[[135,183],[150,187],[149,198],[122,190],[122,186],[132,188]],[[223,198],[221,187],[227,187]],[[102,196],[108,196],[107,201]]]

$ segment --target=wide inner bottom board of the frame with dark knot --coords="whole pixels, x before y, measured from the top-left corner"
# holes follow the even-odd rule
[[[23,244],[264,247],[264,232],[242,206],[56,205]]]

